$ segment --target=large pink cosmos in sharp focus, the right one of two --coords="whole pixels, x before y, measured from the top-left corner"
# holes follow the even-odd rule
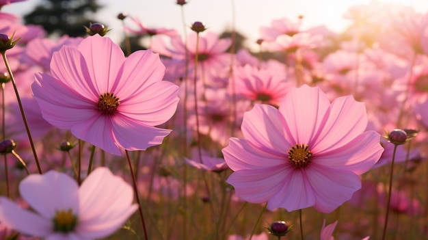
[[[227,182],[248,202],[288,211],[315,206],[330,213],[361,187],[359,174],[382,155],[379,133],[365,131],[366,109],[352,96],[330,104],[319,88],[293,88],[279,109],[244,114],[244,139],[232,137]]]

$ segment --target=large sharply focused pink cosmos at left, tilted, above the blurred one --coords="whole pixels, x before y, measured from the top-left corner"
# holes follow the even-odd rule
[[[119,46],[96,34],[53,53],[51,75],[36,74],[32,89],[42,116],[75,137],[120,155],[161,144],[178,103],[178,86],[161,81],[159,55]]]

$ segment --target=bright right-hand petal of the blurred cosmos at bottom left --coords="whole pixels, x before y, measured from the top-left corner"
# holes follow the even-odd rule
[[[107,237],[137,209],[131,185],[108,168],[96,168],[79,189],[81,212],[76,231],[87,238]]]

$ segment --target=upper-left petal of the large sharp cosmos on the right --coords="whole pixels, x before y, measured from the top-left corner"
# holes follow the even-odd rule
[[[284,116],[270,105],[254,105],[245,112],[241,126],[245,139],[257,147],[269,148],[276,152],[286,152],[295,144],[290,137]]]

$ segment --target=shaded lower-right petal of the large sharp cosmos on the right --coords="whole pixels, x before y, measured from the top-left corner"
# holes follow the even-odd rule
[[[309,165],[305,171],[315,194],[315,209],[321,213],[331,213],[361,188],[360,178],[353,172],[316,163]]]

